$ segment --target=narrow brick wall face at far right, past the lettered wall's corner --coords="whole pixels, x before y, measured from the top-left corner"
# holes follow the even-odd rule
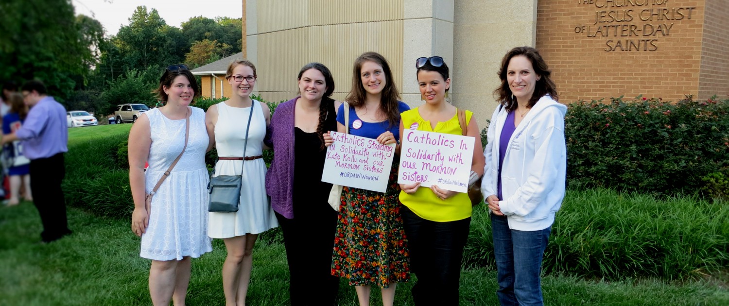
[[[698,98],[729,95],[729,1],[706,0]]]

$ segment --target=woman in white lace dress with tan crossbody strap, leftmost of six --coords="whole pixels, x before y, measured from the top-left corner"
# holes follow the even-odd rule
[[[200,93],[187,66],[168,66],[157,93],[161,101],[167,102],[165,106],[141,114],[129,132],[132,231],[141,237],[140,256],[152,259],[152,304],[169,305],[173,299],[174,305],[184,305],[190,283],[190,257],[212,251],[206,232],[205,166],[205,153],[211,144],[205,129],[205,112],[190,106]],[[190,134],[185,148],[187,117]],[[152,192],[183,148],[184,154],[147,205],[145,194]],[[149,162],[146,172],[145,162]]]

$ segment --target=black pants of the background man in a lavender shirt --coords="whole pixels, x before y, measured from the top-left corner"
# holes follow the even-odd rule
[[[66,219],[66,200],[61,181],[66,176],[63,153],[31,160],[31,191],[33,203],[43,222],[41,238],[44,242],[58,240],[71,233]]]

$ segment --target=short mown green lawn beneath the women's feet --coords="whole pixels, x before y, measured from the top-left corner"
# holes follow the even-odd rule
[[[139,257],[139,238],[129,221],[69,208],[74,234],[39,243],[38,214],[31,203],[0,208],[0,305],[151,305],[149,260]],[[225,246],[192,261],[188,305],[224,305],[220,268]],[[729,305],[729,291],[706,280],[666,282],[651,278],[608,282],[546,275],[547,305]],[[400,284],[395,305],[413,305],[411,283]],[[313,286],[314,289],[316,285]],[[498,305],[496,273],[485,267],[461,274],[461,305]],[[254,249],[250,305],[287,305],[284,246],[262,239]],[[373,292],[373,305],[378,294]],[[354,306],[354,289],[343,280],[340,305]]]

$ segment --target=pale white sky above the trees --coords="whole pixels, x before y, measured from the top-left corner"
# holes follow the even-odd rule
[[[122,25],[128,26],[129,17],[140,5],[146,6],[148,12],[157,9],[165,23],[177,28],[195,16],[243,16],[242,0],[71,0],[71,3],[77,15],[88,15],[101,22],[107,36],[116,35]]]

